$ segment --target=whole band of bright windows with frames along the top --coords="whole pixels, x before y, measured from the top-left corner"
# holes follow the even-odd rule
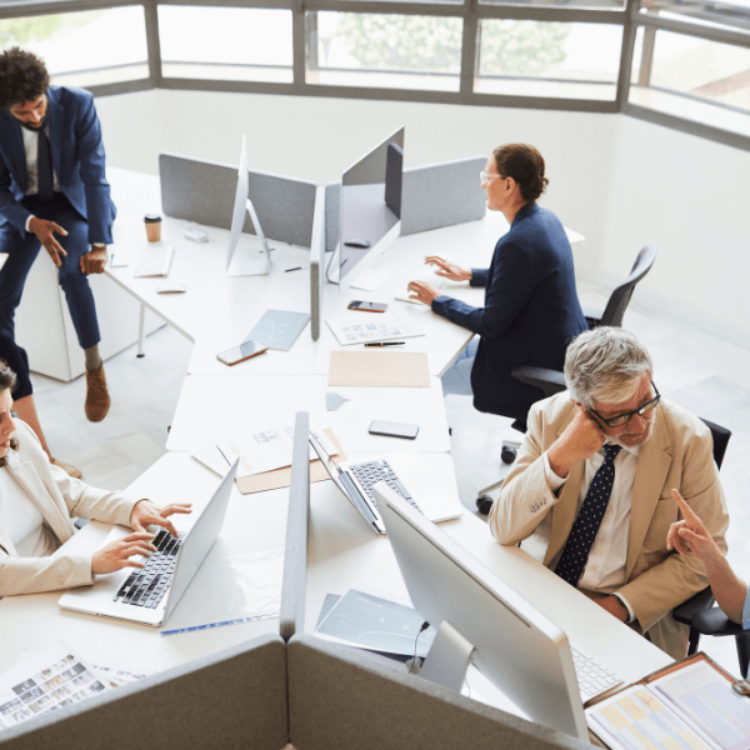
[[[625,112],[750,150],[750,0],[0,0],[15,44],[95,93]]]

